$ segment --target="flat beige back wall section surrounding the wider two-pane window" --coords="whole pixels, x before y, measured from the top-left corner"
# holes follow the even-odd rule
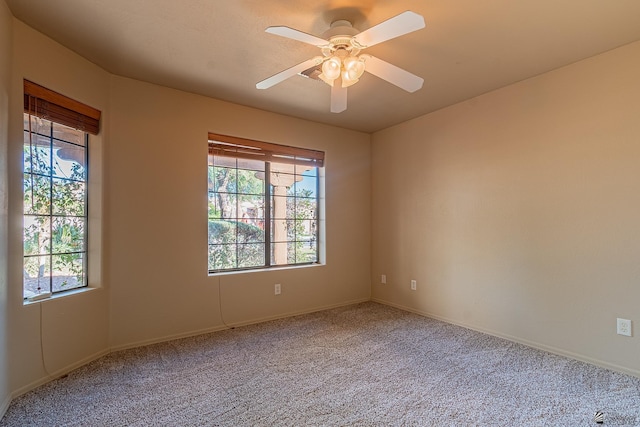
[[[117,76],[111,119],[114,348],[369,299],[368,134]],[[207,275],[208,132],[325,151],[326,265]]]

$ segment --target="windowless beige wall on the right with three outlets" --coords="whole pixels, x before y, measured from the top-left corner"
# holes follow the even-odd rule
[[[640,375],[639,75],[640,42],[374,134],[372,297]]]

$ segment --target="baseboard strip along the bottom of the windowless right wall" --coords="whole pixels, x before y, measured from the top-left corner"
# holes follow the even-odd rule
[[[601,368],[609,369],[611,371],[619,372],[621,374],[631,375],[631,376],[640,378],[640,371],[635,370],[635,369],[629,369],[629,368],[626,368],[624,366],[616,365],[614,363],[605,362],[605,361],[599,360],[599,359],[593,359],[591,357],[584,356],[582,354],[573,353],[573,352],[570,352],[570,351],[563,350],[561,348],[548,346],[548,345],[541,344],[541,343],[535,342],[535,341],[529,341],[529,340],[522,339],[522,338],[519,338],[519,337],[516,337],[516,336],[513,336],[513,335],[503,334],[503,333],[498,332],[498,331],[485,329],[485,328],[479,328],[477,326],[473,326],[473,325],[465,324],[465,323],[462,323],[462,322],[458,322],[458,321],[449,319],[447,317],[438,316],[436,314],[428,313],[428,312],[425,312],[425,311],[422,311],[422,310],[416,310],[416,309],[411,308],[411,307],[406,307],[406,306],[403,306],[401,304],[395,304],[395,303],[392,303],[392,302],[389,302],[389,301],[385,301],[385,300],[382,300],[382,299],[372,298],[371,301],[377,302],[377,303],[383,304],[383,305],[388,305],[390,307],[395,307],[395,308],[398,308],[400,310],[408,311],[408,312],[411,312],[411,313],[419,314],[420,316],[424,316],[424,317],[429,317],[431,319],[440,320],[442,322],[450,323],[452,325],[460,326],[460,327],[463,327],[463,328],[466,328],[466,329],[470,329],[472,331],[481,332],[483,334],[491,335],[491,336],[498,337],[498,338],[503,338],[503,339],[506,339],[506,340],[509,340],[509,341],[516,342],[518,344],[526,345],[527,347],[531,347],[531,348],[535,348],[535,349],[538,349],[538,350],[546,351],[548,353],[553,353],[553,354],[556,354],[558,356],[563,356],[563,357],[567,357],[569,359],[579,360],[581,362],[585,362],[585,363],[588,363],[590,365],[599,366]]]

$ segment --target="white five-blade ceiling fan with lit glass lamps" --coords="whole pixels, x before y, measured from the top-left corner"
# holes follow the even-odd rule
[[[365,71],[407,92],[415,92],[422,87],[424,80],[421,77],[361,52],[424,26],[421,15],[406,11],[362,32],[353,28],[349,21],[335,21],[322,38],[289,27],[268,27],[265,30],[267,33],[319,47],[322,56],[315,56],[262,80],[256,84],[256,88],[267,89],[296,74],[309,76],[313,70],[317,70],[317,77],[331,86],[332,113],[347,109],[347,88],[357,83]]]

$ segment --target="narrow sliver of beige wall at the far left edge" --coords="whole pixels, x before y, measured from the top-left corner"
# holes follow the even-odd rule
[[[11,40],[13,18],[4,0],[0,0],[0,417],[10,399],[7,342],[7,224],[8,224],[8,123],[11,88]]]

